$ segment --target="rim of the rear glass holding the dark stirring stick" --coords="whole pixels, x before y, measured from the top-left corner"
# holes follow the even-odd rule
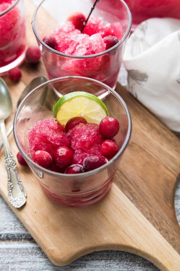
[[[93,58],[93,57],[98,57],[98,56],[101,56],[101,55],[105,55],[105,54],[113,51],[114,49],[116,49],[120,45],[122,45],[125,42],[125,40],[128,38],[128,35],[129,35],[130,31],[131,31],[131,26],[132,26],[131,11],[130,11],[128,5],[125,3],[124,0],[119,0],[119,1],[121,1],[123,3],[123,5],[125,6],[125,8],[126,8],[126,10],[128,12],[129,24],[128,24],[128,29],[126,30],[125,35],[122,37],[122,39],[116,45],[114,45],[113,47],[109,48],[108,50],[105,50],[103,52],[100,52],[100,53],[97,53],[97,54],[93,54],[93,55],[69,55],[69,54],[61,53],[59,51],[56,51],[56,50],[52,49],[48,45],[46,45],[46,43],[40,38],[40,36],[38,35],[37,30],[36,30],[36,24],[35,24],[36,14],[38,12],[38,9],[41,7],[41,5],[43,4],[44,1],[46,1],[46,0],[41,1],[41,3],[36,7],[36,9],[34,11],[34,14],[33,14],[33,17],[32,17],[32,29],[33,29],[33,32],[35,34],[36,39],[38,39],[38,41],[40,42],[40,44],[42,46],[46,47],[46,49],[48,51],[50,51],[51,53],[55,53],[56,55],[61,55],[63,57],[67,57],[67,58],[77,58],[77,59]]]

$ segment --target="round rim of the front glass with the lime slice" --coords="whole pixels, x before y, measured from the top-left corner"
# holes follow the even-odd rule
[[[90,82],[95,82],[95,83],[98,83],[100,84],[101,86],[103,86],[104,88],[108,89],[110,91],[110,93],[113,93],[113,95],[119,100],[119,102],[122,104],[122,106],[124,107],[124,110],[126,112],[126,116],[128,118],[128,132],[127,132],[127,135],[126,135],[126,138],[125,138],[125,141],[122,145],[122,147],[119,149],[118,153],[106,164],[104,164],[103,166],[101,167],[98,167],[94,170],[91,170],[91,171],[87,171],[87,172],[83,172],[83,173],[77,173],[77,174],[65,174],[65,173],[58,173],[58,172],[55,172],[55,171],[51,171],[51,170],[47,170],[45,169],[44,167],[41,167],[39,166],[38,164],[36,164],[22,149],[20,143],[19,143],[19,140],[17,138],[17,134],[16,134],[16,122],[17,122],[17,116],[19,114],[19,111],[21,110],[22,106],[24,105],[24,103],[36,92],[38,92],[39,89],[41,89],[42,87],[44,86],[48,86],[50,83],[52,82],[58,82],[59,80],[64,80],[64,79],[82,79],[82,80],[87,80],[87,81],[90,81]],[[112,88],[110,88],[109,86],[105,85],[104,83],[101,83],[100,81],[98,80],[95,80],[95,79],[92,79],[92,78],[88,78],[88,77],[83,77],[83,76],[64,76],[64,77],[58,77],[58,78],[55,78],[55,79],[52,79],[52,80],[49,80],[41,85],[39,85],[38,87],[36,87],[35,89],[33,89],[31,92],[29,92],[28,95],[26,95],[26,97],[21,101],[21,103],[19,104],[17,110],[16,110],[16,113],[15,113],[15,117],[14,117],[14,122],[13,122],[13,133],[14,133],[14,138],[15,138],[15,142],[16,142],[16,145],[18,147],[18,149],[20,150],[20,152],[23,154],[23,156],[26,157],[26,159],[31,163],[33,164],[33,166],[37,167],[38,170],[42,171],[42,172],[45,172],[49,175],[52,175],[52,176],[55,176],[55,177],[61,177],[62,179],[73,179],[73,178],[84,178],[84,177],[88,177],[88,176],[91,176],[91,175],[94,175],[96,173],[99,173],[105,169],[107,169],[108,167],[110,167],[122,154],[123,152],[125,151],[126,147],[128,146],[128,143],[129,143],[129,140],[130,140],[130,137],[131,137],[131,131],[132,131],[132,122],[131,122],[131,115],[129,113],[129,110],[128,110],[128,107],[125,103],[125,101],[123,100],[123,98],[115,91],[113,90]]]

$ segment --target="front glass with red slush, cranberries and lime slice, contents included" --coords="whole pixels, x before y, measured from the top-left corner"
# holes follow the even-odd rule
[[[107,85],[61,77],[24,98],[16,111],[14,136],[44,192],[58,204],[85,207],[110,190],[131,136],[131,117]]]

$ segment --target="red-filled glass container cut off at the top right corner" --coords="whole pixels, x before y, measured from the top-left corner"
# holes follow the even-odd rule
[[[144,20],[153,17],[180,19],[179,0],[125,0],[131,10],[133,29]]]

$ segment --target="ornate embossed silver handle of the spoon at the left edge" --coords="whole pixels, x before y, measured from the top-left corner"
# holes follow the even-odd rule
[[[5,166],[7,169],[8,200],[15,208],[20,208],[26,202],[26,190],[17,172],[16,161],[10,151],[6,136],[4,120],[0,120],[0,129],[4,145]]]

